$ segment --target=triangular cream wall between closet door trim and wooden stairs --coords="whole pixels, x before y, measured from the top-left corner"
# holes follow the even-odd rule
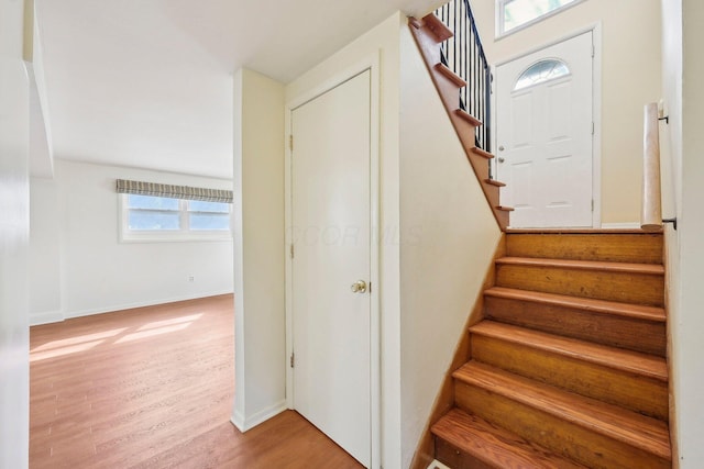
[[[501,230],[432,85],[402,30],[400,467],[409,467]]]

